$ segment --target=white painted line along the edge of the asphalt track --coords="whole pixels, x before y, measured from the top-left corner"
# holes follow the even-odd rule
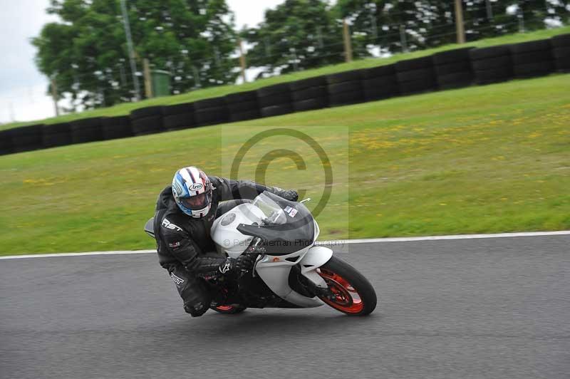
[[[337,239],[333,241],[318,241],[321,246],[344,244],[378,244],[384,242],[415,242],[415,241],[439,241],[445,239],[482,239],[482,238],[505,238],[505,237],[540,237],[570,235],[570,230],[559,232],[521,232],[521,233],[497,233],[497,234],[455,234],[451,236],[426,236],[426,237],[395,237],[395,238],[370,238],[370,239]],[[133,251],[90,251],[86,253],[57,253],[57,254],[29,254],[0,256],[1,259],[24,259],[24,258],[51,258],[56,256],[88,256],[88,255],[117,255],[117,254],[156,254],[156,250],[133,250]]]

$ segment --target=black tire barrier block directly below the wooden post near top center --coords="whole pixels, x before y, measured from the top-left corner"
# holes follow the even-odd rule
[[[364,101],[361,70],[327,75],[326,83],[328,104],[331,106],[356,104]]]

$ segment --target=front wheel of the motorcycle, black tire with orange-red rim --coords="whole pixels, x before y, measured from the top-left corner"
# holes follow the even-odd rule
[[[323,276],[323,279],[327,282],[328,288],[333,292],[335,289],[345,289],[345,291],[338,292],[341,297],[344,296],[342,299],[343,301],[339,301],[339,296],[336,296],[335,300],[321,297],[321,300],[323,300],[328,306],[331,306],[331,308],[334,308],[337,311],[346,313],[349,316],[367,316],[374,311],[376,304],[378,303],[374,287],[368,279],[366,279],[353,266],[336,256],[331,256],[331,259],[329,259],[326,264],[319,267],[319,271],[321,276]],[[337,276],[333,278],[329,274],[336,274]],[[348,287],[355,290],[354,292],[356,292],[361,299],[361,306],[357,306],[356,301],[354,301],[355,299],[351,294],[349,294],[349,291],[347,291],[346,287],[343,286],[343,283],[335,280],[338,276],[340,276],[345,282],[348,282]],[[351,297],[350,299],[346,298],[347,294]],[[348,303],[349,305],[341,305],[342,303]]]

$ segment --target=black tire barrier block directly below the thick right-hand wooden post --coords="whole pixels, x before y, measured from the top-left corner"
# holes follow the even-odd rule
[[[437,86],[440,89],[467,87],[473,83],[469,52],[473,48],[457,48],[432,56]]]

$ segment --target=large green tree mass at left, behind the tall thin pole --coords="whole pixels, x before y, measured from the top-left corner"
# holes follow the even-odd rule
[[[225,0],[128,1],[135,54],[172,73],[174,93],[234,83],[234,19]],[[61,22],[46,24],[33,45],[36,64],[55,76],[73,105],[109,106],[133,98],[120,0],[51,0]]]

